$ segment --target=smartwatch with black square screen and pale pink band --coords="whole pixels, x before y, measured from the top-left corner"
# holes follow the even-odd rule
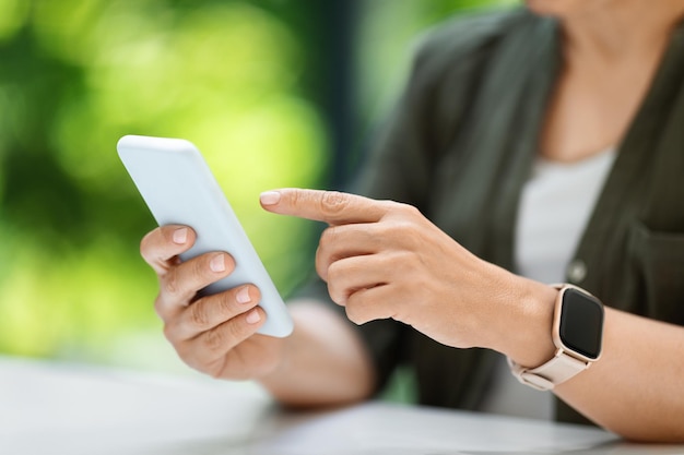
[[[526,368],[508,359],[510,371],[521,383],[547,391],[588,369],[601,357],[603,304],[583,289],[555,285],[558,289],[553,316],[553,359]]]

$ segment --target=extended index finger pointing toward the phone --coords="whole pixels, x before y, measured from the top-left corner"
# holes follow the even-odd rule
[[[266,191],[261,206],[281,215],[326,221],[329,225],[375,223],[388,212],[387,201],[376,201],[339,191],[285,188]]]

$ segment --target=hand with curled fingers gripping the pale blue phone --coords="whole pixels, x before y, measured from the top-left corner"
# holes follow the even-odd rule
[[[163,226],[140,244],[143,259],[156,272],[160,294],[155,310],[164,334],[190,367],[223,379],[258,379],[278,368],[283,339],[256,334],[266,313],[252,285],[211,296],[198,291],[235,270],[229,254],[213,252],[180,262],[178,254],[194,242],[185,226]]]

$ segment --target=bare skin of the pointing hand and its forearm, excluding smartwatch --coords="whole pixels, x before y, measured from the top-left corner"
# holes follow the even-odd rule
[[[524,366],[553,356],[556,291],[470,254],[415,208],[296,189],[266,193],[262,204],[330,224],[316,265],[352,321],[392,318],[445,345],[494,349]],[[509,328],[518,326],[526,331]],[[606,308],[601,360],[554,393],[625,438],[682,442],[683,349],[683,327]]]

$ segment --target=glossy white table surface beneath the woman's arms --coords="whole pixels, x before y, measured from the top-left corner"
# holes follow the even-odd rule
[[[0,454],[684,454],[598,429],[368,403],[284,411],[252,383],[0,357]]]

